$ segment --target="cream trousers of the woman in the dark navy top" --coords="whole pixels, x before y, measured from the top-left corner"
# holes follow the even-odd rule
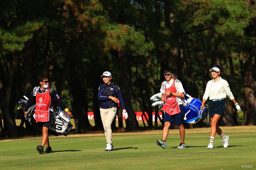
[[[112,121],[116,118],[116,107],[110,109],[100,108],[100,117],[104,127],[104,133],[107,143],[112,143]]]

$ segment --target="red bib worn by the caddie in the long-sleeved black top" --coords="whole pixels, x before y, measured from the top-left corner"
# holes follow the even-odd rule
[[[35,109],[35,120],[38,122],[48,122],[50,114],[51,96],[49,89],[44,93],[36,92],[36,109]]]

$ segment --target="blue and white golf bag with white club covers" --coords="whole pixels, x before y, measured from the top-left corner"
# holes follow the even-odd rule
[[[195,124],[198,123],[200,120],[205,119],[208,115],[208,109],[204,107],[204,110],[200,109],[200,106],[202,105],[201,100],[198,98],[192,98],[190,95],[185,95],[188,98],[185,98],[184,100],[184,107],[185,107],[185,116],[184,116],[184,122]],[[159,108],[162,108],[164,106],[164,102],[161,102],[161,96],[162,93],[154,94],[150,100],[152,100],[154,103],[151,106],[158,106]]]

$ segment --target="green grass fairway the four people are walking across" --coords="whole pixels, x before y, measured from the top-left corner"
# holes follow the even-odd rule
[[[2,140],[0,169],[240,170],[243,165],[255,169],[256,126],[221,128],[230,137],[228,148],[216,136],[214,149],[206,149],[210,128],[186,129],[186,149],[176,149],[180,144],[176,129],[169,131],[166,149],[156,145],[156,140],[162,139],[160,130],[114,133],[114,151],[104,151],[103,133],[50,136],[54,151],[50,154],[39,154],[36,150],[41,137]]]

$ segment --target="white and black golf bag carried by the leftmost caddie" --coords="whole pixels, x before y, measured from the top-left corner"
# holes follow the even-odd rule
[[[26,98],[26,96],[24,96]],[[18,101],[18,109],[23,108],[28,101],[28,98],[26,99],[20,99]],[[27,116],[25,116],[25,119],[31,123],[32,117],[35,119],[35,112],[36,105],[31,106],[28,108]],[[52,135],[58,136],[58,135],[64,135],[67,136],[70,130],[72,129],[73,125],[70,123],[70,117],[69,115],[64,111],[61,110],[59,107],[54,108],[54,117],[52,120],[52,123],[49,127],[49,132],[52,133]]]

